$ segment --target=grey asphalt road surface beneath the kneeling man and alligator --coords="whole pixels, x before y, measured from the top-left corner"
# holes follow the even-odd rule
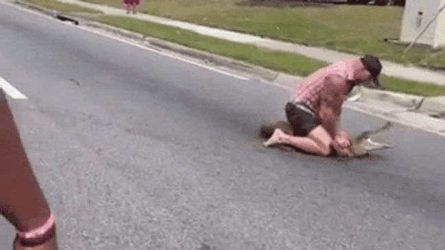
[[[347,163],[265,150],[285,89],[0,5],[0,77],[27,96],[10,106],[61,249],[445,249],[443,137],[396,126],[396,148]]]

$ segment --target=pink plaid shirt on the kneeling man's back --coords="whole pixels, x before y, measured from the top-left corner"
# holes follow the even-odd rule
[[[294,89],[291,94],[291,100],[304,102],[315,111],[318,111],[319,97],[324,89],[324,81],[326,77],[331,74],[336,74],[344,79],[341,83],[343,85],[339,86],[339,88],[344,88],[345,85],[349,85],[347,81],[354,80],[354,69],[352,69],[353,60],[354,59],[334,62],[328,67],[315,71]]]

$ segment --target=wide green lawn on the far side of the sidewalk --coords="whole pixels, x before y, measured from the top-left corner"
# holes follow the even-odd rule
[[[83,0],[122,7],[121,1]],[[241,0],[141,0],[139,12],[351,54],[374,54],[405,65],[445,68],[445,49],[385,42],[398,39],[403,8],[373,5],[265,8]]]

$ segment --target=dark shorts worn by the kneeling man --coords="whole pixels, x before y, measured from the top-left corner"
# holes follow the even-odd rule
[[[295,136],[306,137],[310,131],[321,124],[315,115],[299,109],[290,102],[286,104],[286,117],[294,130]]]

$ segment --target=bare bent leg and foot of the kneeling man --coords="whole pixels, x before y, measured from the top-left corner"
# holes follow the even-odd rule
[[[317,155],[329,155],[331,152],[330,144],[332,138],[328,132],[320,125],[312,130],[308,137],[298,137],[293,135],[286,135],[279,128],[275,129],[272,137],[266,141],[264,146],[270,146],[273,144],[289,144],[300,148],[306,152],[310,152]]]

